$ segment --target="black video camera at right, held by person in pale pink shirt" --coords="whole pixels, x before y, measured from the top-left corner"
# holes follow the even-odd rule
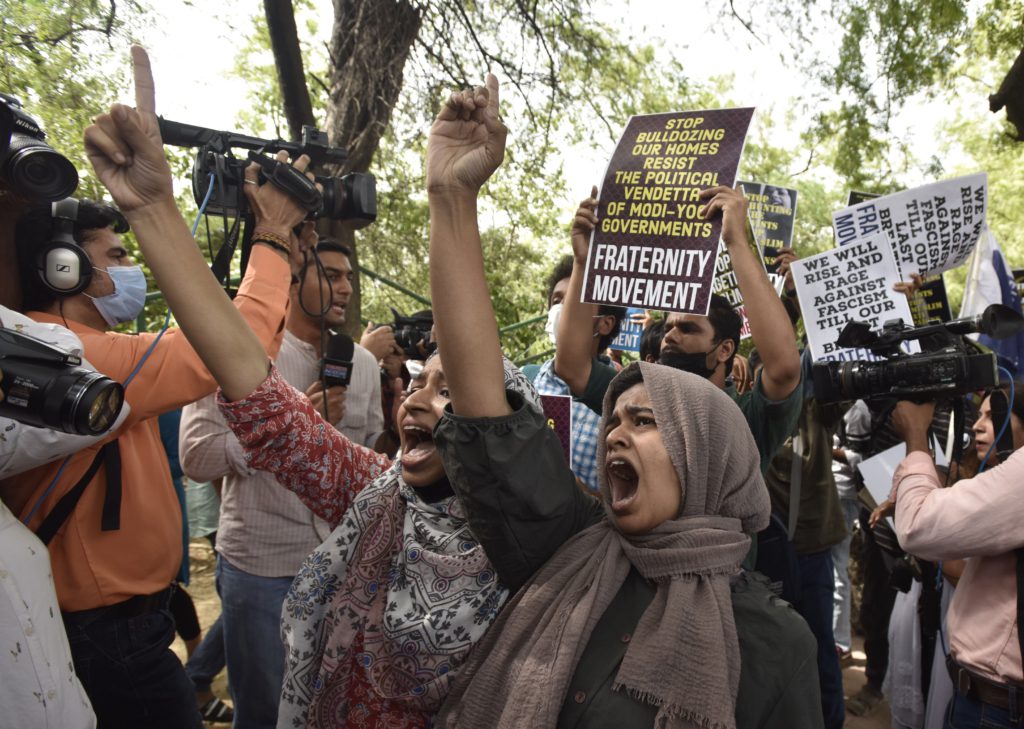
[[[814,393],[822,402],[926,400],[995,387],[995,354],[961,335],[982,333],[1005,339],[1022,330],[1024,317],[1001,304],[992,304],[977,316],[925,327],[894,319],[873,331],[865,321],[850,321],[837,344],[865,348],[884,358],[815,362]],[[900,344],[909,341],[921,341],[927,351],[907,354]]]

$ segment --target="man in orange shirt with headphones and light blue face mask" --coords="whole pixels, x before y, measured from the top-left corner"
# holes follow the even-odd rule
[[[96,370],[125,384],[131,414],[104,441],[62,464],[0,482],[0,497],[48,538],[75,668],[99,725],[199,729],[191,684],[169,650],[174,624],[167,602],[181,556],[181,512],[157,416],[213,392],[216,383],[180,331],[112,331],[137,316],[145,298],[144,275],[117,233],[129,223],[140,239],[178,234],[184,226],[160,147],[148,61],[144,53],[135,60],[137,110],[118,106],[104,119],[136,115],[146,154],[111,169],[97,161],[94,147],[102,140],[87,137],[86,145],[124,214],[61,201],[26,216],[17,228],[29,315],[77,334]],[[295,167],[307,163],[302,157]],[[246,181],[256,231],[236,305],[272,356],[284,331],[289,254],[301,258],[303,244],[292,230],[305,211],[273,185],[257,185],[255,169]]]

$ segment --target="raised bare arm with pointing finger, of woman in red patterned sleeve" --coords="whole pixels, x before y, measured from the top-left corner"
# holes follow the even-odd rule
[[[243,397],[266,378],[268,357],[239,311],[210,274],[206,261],[174,204],[171,171],[156,115],[150,59],[132,47],[135,108],[115,104],[85,130],[85,148],[100,182],[135,230],[146,263],[189,343],[228,399]],[[307,160],[295,167],[305,170]],[[246,173],[246,194],[263,222],[259,232],[289,241],[304,211],[272,185],[255,188]],[[297,253],[297,251],[296,251]]]

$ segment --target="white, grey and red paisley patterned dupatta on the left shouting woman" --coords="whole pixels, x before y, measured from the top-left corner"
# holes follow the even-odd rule
[[[505,380],[540,410],[508,360]],[[396,461],[359,492],[292,584],[278,726],[345,726],[353,683],[411,716],[435,713],[450,672],[507,598],[459,499],[425,503]]]

